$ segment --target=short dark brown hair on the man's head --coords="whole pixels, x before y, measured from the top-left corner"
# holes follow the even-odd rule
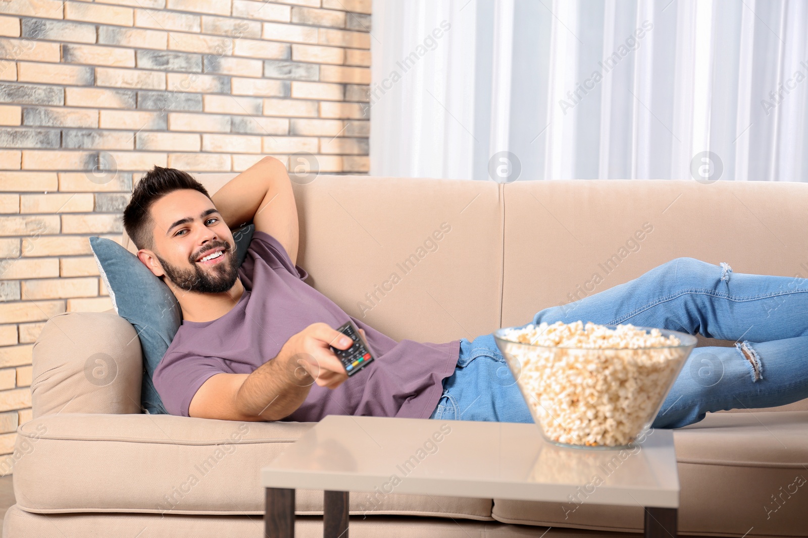
[[[175,168],[154,165],[154,169],[149,170],[137,183],[132,199],[124,209],[124,229],[138,249],[154,248],[151,206],[166,194],[181,189],[198,190],[210,198],[208,190],[190,173]]]

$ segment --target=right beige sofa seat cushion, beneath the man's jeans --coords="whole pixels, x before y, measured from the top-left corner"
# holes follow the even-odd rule
[[[674,442],[681,533],[808,536],[808,411],[709,413],[675,430]],[[608,483],[608,475],[601,478]],[[641,531],[643,523],[640,506],[595,505],[585,498],[580,503],[494,498],[491,515],[504,523],[624,532]]]

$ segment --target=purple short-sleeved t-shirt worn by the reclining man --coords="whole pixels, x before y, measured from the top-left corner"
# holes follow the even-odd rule
[[[348,319],[364,329],[375,360],[334,390],[313,383],[305,402],[284,420],[318,422],[326,415],[428,419],[435,410],[441,381],[457,365],[460,340],[396,342],[347,315],[303,282],[309,273],[263,231],[255,231],[238,276],[245,290],[236,306],[213,321],[183,321],[154,370],[154,386],[171,415],[188,416],[191,398],[208,377],[252,373],[311,323],[336,328]]]

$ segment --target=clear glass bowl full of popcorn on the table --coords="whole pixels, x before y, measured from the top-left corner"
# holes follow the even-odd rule
[[[576,448],[629,447],[696,347],[684,332],[580,320],[501,328],[494,340],[542,436]]]

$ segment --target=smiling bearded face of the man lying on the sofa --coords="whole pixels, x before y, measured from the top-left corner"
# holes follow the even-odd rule
[[[165,274],[175,294],[218,294],[233,287],[238,278],[233,234],[207,196],[197,190],[175,190],[154,202],[150,212],[159,265],[145,256],[141,260],[158,277]],[[212,259],[202,261],[210,254]]]

